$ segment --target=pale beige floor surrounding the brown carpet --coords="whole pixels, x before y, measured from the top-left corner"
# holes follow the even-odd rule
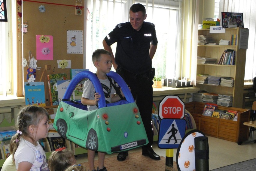
[[[255,134],[255,133],[254,133]],[[255,137],[255,136],[254,136]],[[250,137],[249,137],[250,139]],[[209,170],[212,171],[246,171],[256,170],[256,143],[237,143],[221,140],[214,137],[208,137],[209,143]],[[158,155],[165,157],[166,149],[159,149],[157,142],[153,144],[154,152]],[[141,148],[133,149],[130,152],[141,151]],[[129,152],[129,153],[130,153]],[[176,161],[177,149],[173,150],[173,161]],[[117,156],[117,153],[106,155],[107,157]],[[97,156],[96,156],[97,159]],[[254,159],[254,160],[251,160]],[[87,162],[87,154],[78,155],[77,163]],[[248,161],[249,160],[249,161]],[[239,163],[245,161],[243,163]],[[117,161],[118,164],[119,161]],[[231,165],[231,166],[229,166]],[[228,167],[225,167],[228,166]]]

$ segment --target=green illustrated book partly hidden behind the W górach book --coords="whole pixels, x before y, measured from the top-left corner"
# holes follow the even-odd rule
[[[66,73],[56,73],[56,74],[47,74],[48,79],[48,87],[50,92],[50,103],[51,105],[58,105],[59,98],[58,98],[58,91],[57,91],[57,81],[58,80],[66,80],[67,74]]]

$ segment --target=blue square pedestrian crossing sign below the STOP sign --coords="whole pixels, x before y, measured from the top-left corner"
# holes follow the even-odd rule
[[[162,119],[160,122],[158,147],[160,149],[176,149],[185,136],[185,119]]]

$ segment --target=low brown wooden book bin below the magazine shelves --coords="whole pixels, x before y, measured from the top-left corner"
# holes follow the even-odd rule
[[[205,103],[194,101],[185,104],[185,109],[188,110],[193,116],[198,130],[202,131],[208,136],[236,142],[239,145],[242,144],[243,141],[248,140],[249,129],[248,126],[243,125],[243,123],[249,121],[250,110],[218,106],[219,110],[238,111],[237,121],[231,121],[210,116],[203,116],[202,113],[204,106]]]

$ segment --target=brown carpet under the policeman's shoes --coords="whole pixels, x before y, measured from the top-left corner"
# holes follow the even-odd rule
[[[161,160],[152,160],[147,156],[143,156],[141,152],[130,153],[125,161],[117,161],[117,156],[105,158],[105,167],[108,171],[165,171],[165,158],[160,156]],[[82,163],[87,169],[88,162]],[[94,162],[95,167],[98,166],[98,160]],[[174,170],[177,170],[176,162],[173,162]]]

